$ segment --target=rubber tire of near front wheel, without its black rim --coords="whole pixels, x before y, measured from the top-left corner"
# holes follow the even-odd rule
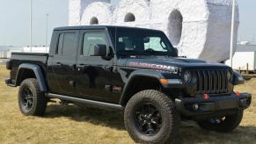
[[[153,136],[141,133],[135,126],[136,107],[143,103],[154,104],[161,113],[159,131]],[[172,142],[179,129],[179,114],[172,99],[157,90],[143,90],[130,98],[124,113],[124,123],[130,137],[139,143]]]

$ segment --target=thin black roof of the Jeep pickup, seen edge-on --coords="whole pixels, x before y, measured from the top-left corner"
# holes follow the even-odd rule
[[[56,27],[54,30],[55,30],[55,31],[62,31],[62,30],[108,29],[108,28],[140,29],[140,30],[158,31],[158,30],[147,29],[147,28],[128,27],[128,26],[120,26],[120,25],[81,25],[81,26],[64,26],[64,27]]]

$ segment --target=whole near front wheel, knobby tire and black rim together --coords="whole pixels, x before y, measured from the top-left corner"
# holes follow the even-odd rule
[[[124,122],[131,138],[139,143],[170,142],[179,129],[172,99],[157,90],[143,90],[131,97]]]

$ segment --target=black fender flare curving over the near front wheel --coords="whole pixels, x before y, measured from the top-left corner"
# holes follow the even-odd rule
[[[135,79],[137,76],[147,76],[150,78],[155,78],[158,81],[162,78],[165,78],[162,74],[158,73],[156,70],[147,70],[147,69],[141,69],[141,70],[135,70],[131,73],[131,75],[128,77],[127,83],[124,86],[123,92],[121,94],[120,104],[123,105],[125,103],[125,98],[127,97],[128,88],[131,85],[131,82]]]

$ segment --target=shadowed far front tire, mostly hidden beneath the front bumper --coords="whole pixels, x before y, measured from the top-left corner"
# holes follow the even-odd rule
[[[220,123],[213,123],[209,119],[198,121],[197,124],[202,129],[209,131],[216,131],[221,133],[229,133],[235,128],[237,128],[243,119],[243,110],[239,110],[237,113],[226,116]]]

